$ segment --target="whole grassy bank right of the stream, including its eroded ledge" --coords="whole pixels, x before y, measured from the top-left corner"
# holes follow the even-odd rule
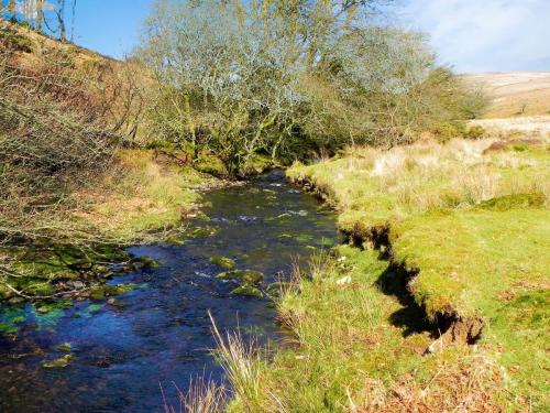
[[[235,410],[543,410],[549,166],[546,142],[484,140],[292,167],[354,247],[295,273],[277,301],[289,345]]]

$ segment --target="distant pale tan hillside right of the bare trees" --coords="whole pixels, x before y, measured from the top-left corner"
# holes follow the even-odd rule
[[[468,74],[492,98],[485,118],[550,115],[550,72]]]

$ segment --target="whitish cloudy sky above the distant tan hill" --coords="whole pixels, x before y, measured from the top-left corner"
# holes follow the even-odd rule
[[[550,0],[407,0],[399,14],[459,72],[550,70]]]

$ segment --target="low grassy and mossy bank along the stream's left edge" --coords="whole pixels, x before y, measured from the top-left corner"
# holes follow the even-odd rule
[[[183,219],[200,214],[199,192],[227,184],[152,150],[119,150],[108,171],[48,218],[48,239],[0,246],[1,300],[103,296],[102,285],[116,273],[155,265],[132,259],[125,248],[177,242]]]

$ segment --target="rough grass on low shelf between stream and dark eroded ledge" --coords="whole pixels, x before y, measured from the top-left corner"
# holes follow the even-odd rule
[[[496,409],[505,395],[493,358],[468,347],[422,356],[428,333],[418,326],[405,334],[403,326],[415,309],[377,286],[388,262],[374,250],[336,252],[314,259],[277,302],[290,338],[271,362],[256,361],[256,391],[240,395],[230,411]],[[474,374],[479,380],[469,381]]]

